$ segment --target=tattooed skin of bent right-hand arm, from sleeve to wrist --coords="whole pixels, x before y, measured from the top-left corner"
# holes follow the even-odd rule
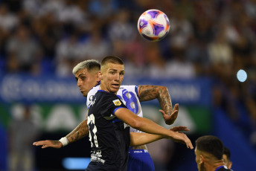
[[[157,98],[166,114],[170,115],[173,112],[170,94],[165,86],[138,86],[138,97],[141,102]]]

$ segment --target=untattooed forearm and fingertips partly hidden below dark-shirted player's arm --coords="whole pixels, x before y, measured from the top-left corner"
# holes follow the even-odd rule
[[[170,130],[173,132],[189,131],[189,129],[186,126],[175,126]],[[141,146],[147,143],[158,141],[162,138],[168,138],[167,136],[163,136],[163,135],[153,135],[153,134],[138,133],[138,132],[130,132],[129,135],[130,135],[129,146]]]

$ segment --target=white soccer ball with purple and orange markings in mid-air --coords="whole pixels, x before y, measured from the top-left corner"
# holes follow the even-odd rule
[[[161,10],[147,10],[138,19],[138,32],[150,41],[164,39],[169,30],[169,19]]]

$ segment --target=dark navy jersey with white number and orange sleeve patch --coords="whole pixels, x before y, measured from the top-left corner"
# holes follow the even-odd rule
[[[91,163],[87,170],[127,170],[129,155],[129,126],[115,111],[127,108],[113,93],[99,90],[89,104],[89,141],[91,141]]]

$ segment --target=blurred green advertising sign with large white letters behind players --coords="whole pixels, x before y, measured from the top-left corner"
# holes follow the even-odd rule
[[[159,106],[142,104],[144,117],[159,123],[161,126],[170,128],[164,123]],[[0,106],[0,120],[7,127],[11,118],[19,119],[25,106],[22,104],[11,104]],[[34,123],[44,132],[70,132],[80,122],[86,119],[86,105],[65,103],[41,103],[30,106],[31,117]],[[189,134],[204,134],[211,132],[211,111],[202,106],[179,106],[178,117],[172,126],[188,126]]]

